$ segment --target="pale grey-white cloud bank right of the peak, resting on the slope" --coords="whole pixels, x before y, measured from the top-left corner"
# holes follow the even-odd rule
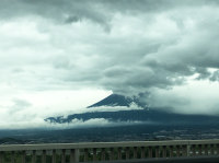
[[[191,80],[171,90],[153,90],[147,101],[150,107],[168,108],[175,113],[218,115],[218,82]]]

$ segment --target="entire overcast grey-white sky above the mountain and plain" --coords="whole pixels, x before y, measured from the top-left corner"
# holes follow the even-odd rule
[[[110,95],[219,114],[219,1],[0,0],[0,127]]]

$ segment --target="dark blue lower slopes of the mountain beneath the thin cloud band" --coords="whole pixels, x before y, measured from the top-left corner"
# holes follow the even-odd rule
[[[215,125],[219,124],[218,116],[206,115],[182,115],[157,109],[132,109],[118,112],[88,112],[83,114],[73,114],[68,117],[49,117],[45,119],[49,123],[71,123],[72,119],[87,121],[94,118],[104,118],[108,121],[145,121],[160,125]]]

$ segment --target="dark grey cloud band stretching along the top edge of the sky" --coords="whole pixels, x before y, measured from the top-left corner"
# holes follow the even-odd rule
[[[217,1],[174,0],[1,0],[2,19],[36,14],[60,23],[72,23],[83,19],[108,25],[115,12],[122,14],[158,13],[174,8],[217,4]]]

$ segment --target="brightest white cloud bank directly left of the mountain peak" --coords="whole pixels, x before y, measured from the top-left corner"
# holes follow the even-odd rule
[[[45,118],[81,112],[81,108],[108,94],[111,92],[80,90],[22,92],[13,94],[13,98],[9,95],[0,102],[0,128],[44,128],[46,127]]]

